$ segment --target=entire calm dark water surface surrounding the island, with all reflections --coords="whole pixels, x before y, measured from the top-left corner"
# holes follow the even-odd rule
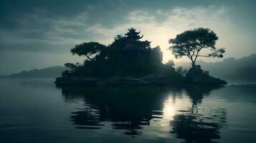
[[[256,142],[256,84],[55,87],[0,79],[0,142]]]

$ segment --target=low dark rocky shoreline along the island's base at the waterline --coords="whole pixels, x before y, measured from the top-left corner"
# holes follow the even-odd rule
[[[134,85],[150,85],[150,84],[227,84],[222,79],[207,76],[205,74],[196,75],[190,78],[172,79],[164,74],[152,74],[144,77],[121,77],[113,76],[109,78],[100,77],[57,77],[55,84],[57,85],[75,85],[75,84],[134,84]]]

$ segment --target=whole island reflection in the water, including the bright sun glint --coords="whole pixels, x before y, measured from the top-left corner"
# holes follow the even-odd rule
[[[82,101],[70,122],[77,129],[110,125],[133,137],[145,127],[166,128],[185,142],[213,142],[226,122],[225,109],[200,109],[219,87],[61,87],[65,102]],[[215,108],[215,107],[214,107]]]

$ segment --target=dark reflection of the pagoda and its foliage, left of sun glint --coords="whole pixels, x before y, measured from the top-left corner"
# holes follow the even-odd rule
[[[71,121],[79,129],[100,129],[104,122],[112,122],[113,129],[123,134],[140,135],[149,126],[153,110],[161,110],[170,91],[160,87],[62,87],[67,102],[83,99],[85,109],[72,112]]]

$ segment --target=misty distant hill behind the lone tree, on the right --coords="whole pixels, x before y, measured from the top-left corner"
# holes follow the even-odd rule
[[[256,81],[256,54],[243,57],[242,59],[227,58],[219,62],[198,61],[202,69],[209,71],[214,77],[220,77],[227,80],[246,80]],[[175,63],[176,66],[189,68],[190,64],[186,62]]]

